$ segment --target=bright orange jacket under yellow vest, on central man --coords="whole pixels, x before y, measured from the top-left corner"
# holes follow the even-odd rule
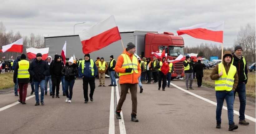
[[[128,55],[128,57],[130,58],[130,60],[132,61],[133,58],[133,54],[130,54],[126,51],[126,49],[123,51],[123,54]],[[134,57],[136,58],[136,57]],[[116,67],[115,67],[115,71],[117,73],[126,73],[125,72],[125,68],[122,68],[122,65],[124,63],[124,57],[122,55],[120,55],[116,61]],[[139,83],[138,78],[140,77],[141,74],[141,69],[140,69],[140,63],[138,61],[138,73],[135,73],[135,71],[133,71],[132,74],[127,74],[127,75],[121,75],[119,77],[119,84],[136,84]]]

